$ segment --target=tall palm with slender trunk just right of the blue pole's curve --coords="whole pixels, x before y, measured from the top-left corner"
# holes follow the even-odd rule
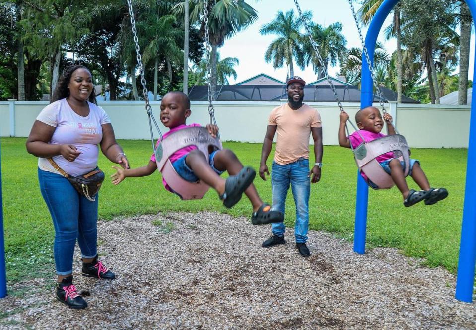
[[[364,25],[369,25],[372,21],[372,17],[377,12],[380,5],[384,0],[365,0],[362,4],[362,7],[359,9],[358,13],[360,19]],[[397,103],[402,103],[402,77],[403,77],[403,60],[402,60],[402,44],[401,44],[401,6],[399,3],[394,7],[393,10],[393,22],[390,26],[390,32],[387,33],[387,39],[391,38],[393,35],[397,37]],[[387,28],[389,30],[389,28]]]

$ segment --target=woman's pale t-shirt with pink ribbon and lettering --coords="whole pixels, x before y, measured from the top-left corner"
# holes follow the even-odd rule
[[[56,127],[50,144],[70,144],[81,152],[73,162],[68,162],[61,155],[53,157],[58,166],[73,176],[85,174],[96,168],[98,144],[102,140],[101,125],[111,123],[103,108],[91,102],[88,102],[88,105],[89,114],[82,117],[74,112],[66,98],[63,98],[47,105],[36,118]],[[59,173],[46,158],[38,159],[38,167],[48,172]]]

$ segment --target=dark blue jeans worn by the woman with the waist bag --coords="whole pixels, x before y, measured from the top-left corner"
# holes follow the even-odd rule
[[[80,196],[68,179],[60,174],[38,168],[38,179],[43,199],[50,210],[55,227],[56,273],[72,272],[76,239],[81,256],[93,258],[97,254],[97,209],[98,197],[91,202]]]

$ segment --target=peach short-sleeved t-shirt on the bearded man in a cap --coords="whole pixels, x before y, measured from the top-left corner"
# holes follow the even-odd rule
[[[293,110],[287,103],[271,111],[268,125],[277,126],[274,161],[280,165],[293,163],[301,157],[309,159],[311,127],[322,127],[316,109],[303,104]]]

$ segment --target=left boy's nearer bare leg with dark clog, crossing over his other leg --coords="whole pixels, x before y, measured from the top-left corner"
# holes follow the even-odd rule
[[[185,163],[200,180],[218,192],[220,198],[223,199],[223,205],[228,208],[239,202],[243,192],[253,182],[256,175],[253,168],[244,167],[236,175],[231,175],[224,180],[211,168],[208,158],[205,158],[199,150],[191,151],[185,158]]]

